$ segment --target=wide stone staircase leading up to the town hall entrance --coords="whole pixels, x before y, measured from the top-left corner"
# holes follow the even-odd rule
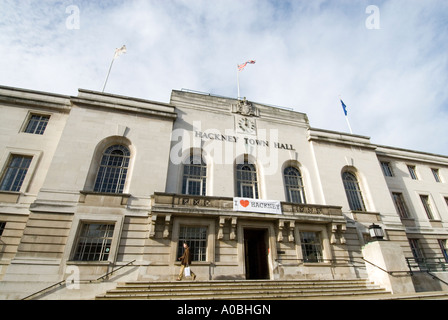
[[[126,282],[97,300],[375,299],[391,296],[365,279]]]

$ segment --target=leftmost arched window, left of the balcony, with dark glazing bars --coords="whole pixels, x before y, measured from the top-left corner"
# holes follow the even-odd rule
[[[93,191],[123,193],[130,155],[129,149],[122,145],[107,148],[101,158]]]

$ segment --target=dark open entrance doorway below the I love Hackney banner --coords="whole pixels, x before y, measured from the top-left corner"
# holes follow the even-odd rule
[[[246,279],[269,279],[268,230],[244,229]]]

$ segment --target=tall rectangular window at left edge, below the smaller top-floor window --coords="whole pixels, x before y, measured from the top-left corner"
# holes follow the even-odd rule
[[[12,155],[3,174],[0,190],[20,191],[32,159],[28,156]]]

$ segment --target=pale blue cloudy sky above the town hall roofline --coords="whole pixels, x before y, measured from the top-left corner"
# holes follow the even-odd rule
[[[379,10],[379,29],[366,27]],[[67,27],[69,6],[78,28]],[[72,20],[70,20],[72,21]],[[69,22],[70,22],[69,21]],[[241,95],[313,127],[448,155],[446,0],[0,0],[0,85],[168,102],[172,89]]]

